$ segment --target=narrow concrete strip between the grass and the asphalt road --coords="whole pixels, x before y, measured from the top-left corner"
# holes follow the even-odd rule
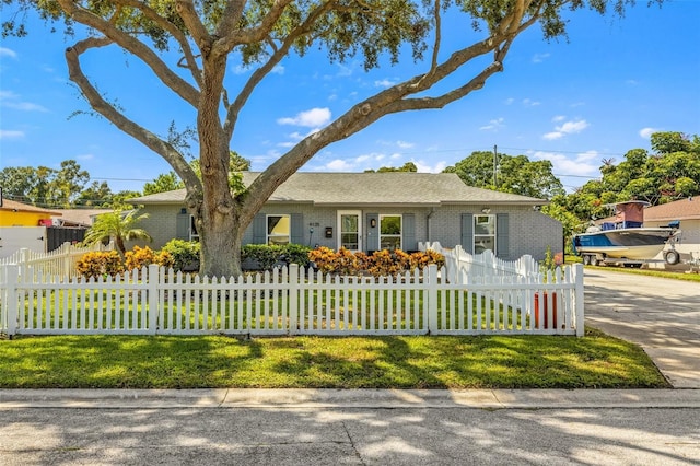
[[[700,389],[0,389],[0,409],[700,408]]]

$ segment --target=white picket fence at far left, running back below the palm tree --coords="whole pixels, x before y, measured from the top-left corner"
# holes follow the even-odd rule
[[[104,245],[97,243],[91,246],[77,246],[71,243],[63,243],[50,253],[37,253],[27,248],[22,248],[14,254],[0,259],[0,267],[16,265],[20,266],[20,275],[26,276],[30,268],[35,273],[62,276],[68,279],[78,277],[75,264],[83,254],[95,251],[114,251],[114,242]]]

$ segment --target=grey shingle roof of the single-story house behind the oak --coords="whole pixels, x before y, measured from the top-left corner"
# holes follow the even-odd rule
[[[259,173],[244,172],[247,186]],[[185,189],[130,199],[138,203],[183,203]],[[541,206],[546,200],[467,186],[454,173],[306,173],[293,174],[270,203],[316,206],[491,203]]]

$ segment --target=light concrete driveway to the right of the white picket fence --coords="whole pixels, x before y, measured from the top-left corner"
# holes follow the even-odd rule
[[[675,388],[700,388],[700,284],[585,269],[585,323],[640,345]]]

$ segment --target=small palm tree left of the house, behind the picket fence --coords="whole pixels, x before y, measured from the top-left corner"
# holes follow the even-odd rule
[[[109,213],[103,213],[97,217],[85,233],[83,238],[84,244],[95,244],[104,240],[114,238],[117,248],[124,256],[127,252],[124,245],[125,241],[130,240],[147,240],[152,241],[145,230],[137,229],[135,225],[143,219],[148,219],[148,213],[137,215],[137,210],[129,210],[124,213],[120,209],[117,209]]]

